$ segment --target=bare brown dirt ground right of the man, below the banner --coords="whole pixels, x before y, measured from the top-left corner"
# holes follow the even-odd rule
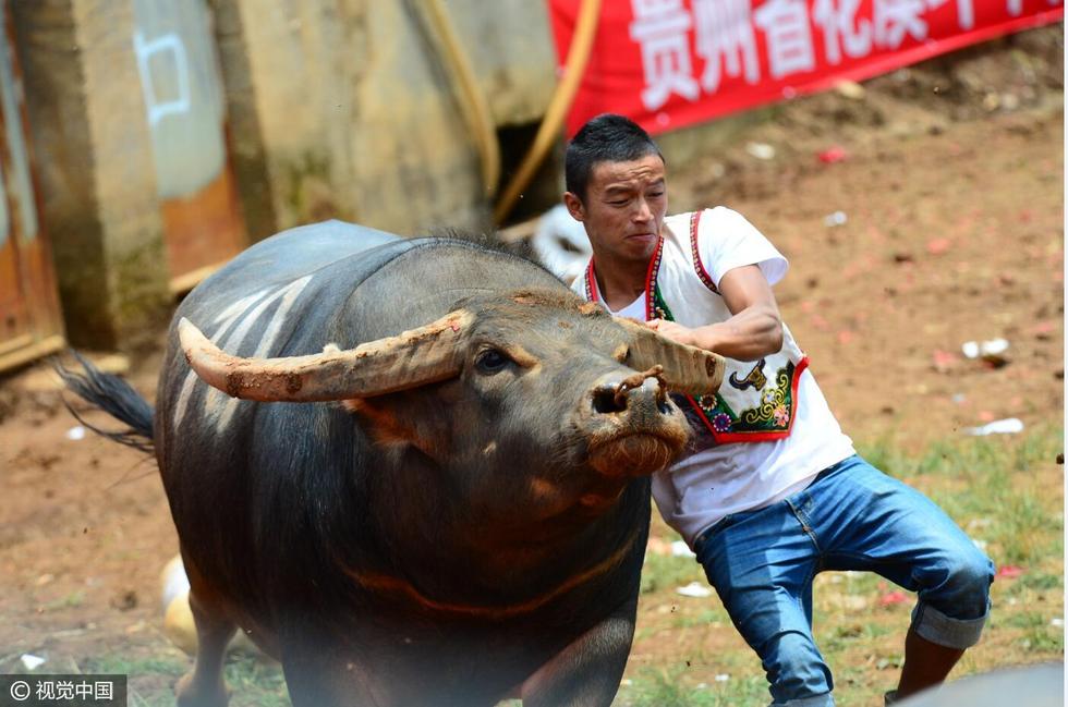
[[[789,258],[785,319],[854,437],[1061,417],[1063,36],[944,57],[860,100],[780,106],[671,185],[677,210],[731,206]],[[753,159],[752,143],[776,158]],[[836,147],[845,161],[818,159]],[[997,338],[1011,365],[963,357]]]

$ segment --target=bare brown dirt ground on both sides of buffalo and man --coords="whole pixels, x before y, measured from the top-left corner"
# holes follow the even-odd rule
[[[731,206],[790,259],[784,317],[854,440],[919,449],[1008,417],[1063,420],[1063,37],[767,109],[670,174],[672,210]],[[835,147],[845,159],[817,157]],[[993,339],[1009,342],[998,357],[962,354]],[[149,397],[156,363],[130,371]],[[59,672],[174,651],[158,575],[177,541],[155,465],[72,439],[75,425],[41,367],[0,378],[0,672],[25,653]],[[639,642],[632,661],[672,649]]]

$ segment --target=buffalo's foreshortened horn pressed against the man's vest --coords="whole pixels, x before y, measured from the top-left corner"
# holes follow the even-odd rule
[[[709,395],[724,380],[724,357],[703,349],[677,343],[631,319],[616,318],[632,337],[627,365],[645,370],[664,366],[668,390],[688,395]]]

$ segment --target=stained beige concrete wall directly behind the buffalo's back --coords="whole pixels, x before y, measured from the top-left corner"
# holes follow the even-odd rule
[[[235,153],[274,215],[250,219],[254,240],[328,217],[405,234],[488,224],[476,145],[416,1],[213,0],[231,129],[253,136]],[[537,121],[555,85],[544,3],[447,9],[496,124]]]

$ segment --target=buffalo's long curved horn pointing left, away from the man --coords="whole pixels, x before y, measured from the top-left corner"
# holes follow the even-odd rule
[[[369,398],[446,380],[460,371],[457,342],[473,316],[463,309],[397,337],[307,356],[241,358],[211,343],[189,319],[178,336],[190,366],[231,398],[313,402]]]

